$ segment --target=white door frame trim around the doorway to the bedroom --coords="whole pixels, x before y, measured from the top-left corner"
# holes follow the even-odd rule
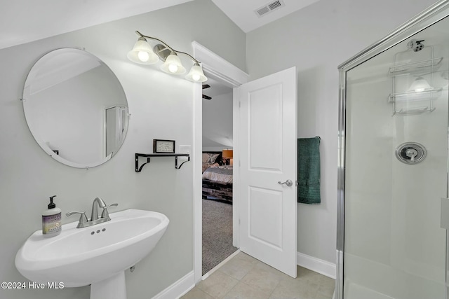
[[[200,43],[193,41],[193,56],[202,64],[203,71],[209,78],[228,85],[233,88],[232,92],[232,134],[233,134],[233,155],[235,163],[239,163],[239,103],[236,88],[249,81],[249,75],[235,67],[234,64],[227,62],[219,55],[213,53]],[[193,90],[193,217],[194,217],[194,281],[197,284],[203,278],[202,275],[202,174],[201,174],[201,156],[203,150],[203,101],[201,84],[195,84]],[[239,172],[238,168],[233,171],[233,202],[239,202]],[[232,204],[232,244],[239,248],[239,209],[238,204]]]

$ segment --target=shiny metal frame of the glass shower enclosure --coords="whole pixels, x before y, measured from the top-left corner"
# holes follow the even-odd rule
[[[449,16],[449,0],[438,1],[433,6],[427,8],[419,15],[408,20],[403,25],[373,43],[365,50],[362,50],[354,57],[343,62],[338,66],[340,72],[340,89],[339,89],[339,114],[338,114],[338,175],[337,175],[337,279],[335,280],[335,299],[343,298],[343,281],[344,281],[344,178],[345,178],[345,144],[346,144],[346,73],[354,69],[359,64],[363,64],[375,57],[376,55],[396,46],[396,44],[409,39],[410,36],[417,32],[434,25],[436,22]],[[447,249],[446,249],[447,250]],[[448,258],[446,254],[446,258]],[[448,263],[446,262],[446,265]],[[446,268],[446,273],[448,269]],[[447,285],[448,277],[446,277]],[[445,292],[448,298],[448,291]]]

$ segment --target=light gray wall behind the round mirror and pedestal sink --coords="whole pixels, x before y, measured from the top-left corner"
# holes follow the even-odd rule
[[[214,26],[208,26],[211,23]],[[134,153],[151,152],[152,139],[193,144],[194,83],[163,73],[159,64],[129,62],[126,53],[137,40],[135,30],[189,53],[190,43],[199,41],[245,69],[245,34],[208,0],[0,50],[0,281],[26,281],[15,269],[15,253],[41,228],[41,211],[51,195],[58,195],[55,202],[63,213],[90,211],[93,198],[99,196],[109,204],[119,203],[111,212],[150,209],[170,218],[154,251],[138,263],[135,272],[126,272],[129,299],[152,298],[193,270],[193,163],[177,170],[174,158],[154,158],[136,173]],[[44,53],[62,47],[83,47],[100,57],[128,97],[131,116],[125,143],[112,160],[88,170],[62,165],[39,148],[19,100],[32,64]],[[62,221],[76,221],[76,217],[63,216]],[[88,298],[89,290],[0,289],[0,298]]]

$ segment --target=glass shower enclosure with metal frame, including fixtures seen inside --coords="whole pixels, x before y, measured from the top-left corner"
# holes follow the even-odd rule
[[[449,1],[339,69],[335,298],[445,299]]]

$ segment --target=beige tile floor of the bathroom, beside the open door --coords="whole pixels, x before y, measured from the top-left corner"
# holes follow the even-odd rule
[[[332,299],[335,279],[297,267],[293,279],[240,252],[182,299]]]

